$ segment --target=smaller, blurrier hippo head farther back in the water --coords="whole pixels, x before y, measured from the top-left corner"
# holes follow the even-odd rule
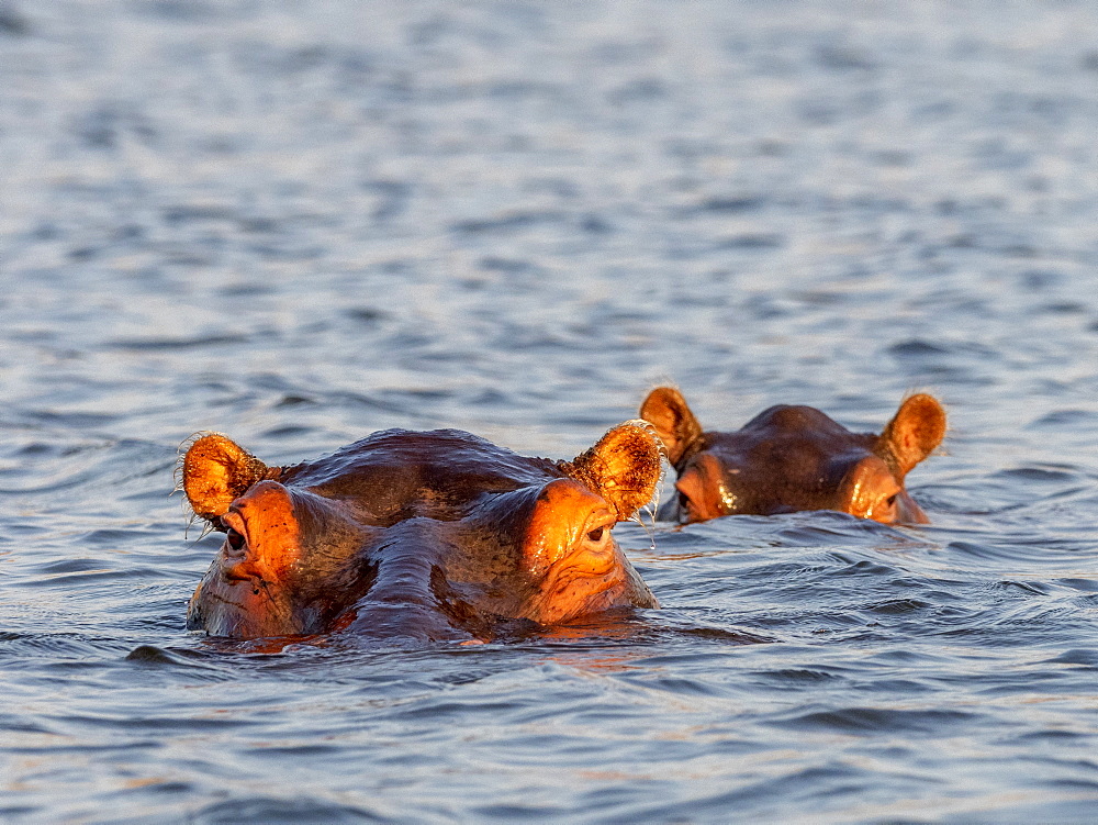
[[[885,524],[926,524],[904,489],[907,473],[941,444],[945,411],[923,393],[905,400],[877,435],[852,433],[811,406],[781,404],[740,430],[703,430],[682,394],[652,390],[640,408],[679,480],[661,517],[838,510]]]

